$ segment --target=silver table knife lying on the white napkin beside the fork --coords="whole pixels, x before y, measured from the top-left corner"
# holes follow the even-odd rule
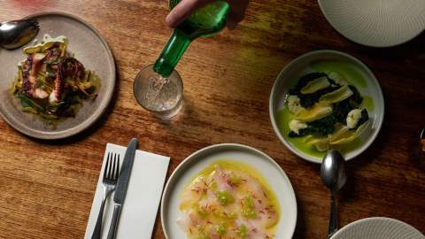
[[[118,221],[120,220],[120,212],[124,199],[126,199],[128,182],[130,181],[131,169],[133,168],[133,162],[135,161],[135,149],[137,148],[137,139],[131,139],[128,143],[126,155],[122,162],[120,176],[117,182],[117,188],[115,189],[115,196],[113,197],[113,214],[111,227],[109,227],[109,233],[107,239],[114,239],[117,235]]]

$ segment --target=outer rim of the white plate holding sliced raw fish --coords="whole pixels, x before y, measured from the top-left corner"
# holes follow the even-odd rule
[[[277,168],[277,170],[279,171],[279,173],[282,174],[283,180],[284,181],[288,181],[289,185],[290,185],[290,195],[291,195],[291,199],[294,202],[294,206],[296,208],[295,210],[295,223],[292,227],[292,232],[291,235],[293,236],[295,233],[295,228],[297,226],[297,220],[298,220],[298,204],[297,204],[297,198],[295,196],[295,191],[292,187],[292,184],[290,183],[290,178],[288,177],[288,175],[283,171],[282,167],[279,166],[276,161],[274,161],[273,158],[271,158],[270,156],[268,156],[266,153],[264,153],[261,150],[257,150],[251,146],[248,145],[244,145],[244,144],[240,144],[240,143],[218,143],[218,144],[213,144],[210,146],[207,146],[203,149],[197,150],[194,153],[190,154],[187,158],[185,158],[180,164],[179,166],[177,166],[174,169],[174,172],[170,175],[169,179],[166,181],[166,187],[164,188],[164,193],[162,194],[162,198],[161,198],[161,225],[162,225],[162,230],[163,233],[165,235],[165,237],[168,239],[170,238],[170,236],[168,235],[168,230],[167,230],[167,226],[166,226],[166,222],[165,222],[165,213],[166,213],[166,203],[165,201],[168,200],[168,194],[170,191],[172,191],[172,188],[174,187],[174,184],[176,183],[176,177],[179,176],[179,173],[182,174],[182,171],[184,171],[186,169],[186,167],[189,167],[191,164],[193,164],[193,160],[195,160],[197,158],[197,155],[199,154],[206,154],[206,152],[208,151],[214,151],[214,150],[245,150],[245,151],[251,151],[254,153],[259,154],[260,156],[267,158],[267,161],[269,161],[274,167]]]

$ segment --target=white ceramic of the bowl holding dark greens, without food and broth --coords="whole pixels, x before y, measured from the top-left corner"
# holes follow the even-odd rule
[[[288,66],[283,68],[276,81],[274,81],[269,104],[270,119],[272,121],[274,132],[279,136],[279,139],[281,139],[282,143],[299,157],[305,158],[306,160],[314,163],[321,163],[321,157],[314,157],[312,155],[306,154],[301,150],[298,150],[282,135],[280,126],[281,122],[278,119],[278,112],[283,109],[285,105],[285,96],[288,94],[288,91],[296,85],[299,78],[306,73],[318,72],[317,67],[313,69],[314,64],[328,62],[336,62],[336,64],[344,64],[347,67],[349,66],[350,71],[353,71],[359,75],[359,77],[362,78],[367,83],[367,85],[359,85],[353,82],[350,83],[359,89],[361,96],[369,97],[374,103],[373,109],[367,109],[367,112],[369,113],[369,120],[371,121],[367,132],[361,135],[361,143],[359,145],[356,145],[351,150],[342,150],[345,159],[350,160],[355,158],[361,152],[366,150],[367,147],[369,147],[370,144],[374,142],[375,137],[378,135],[383,125],[383,91],[381,90],[379,82],[376,80],[374,73],[372,73],[367,68],[367,66],[361,63],[359,59],[353,58],[348,54],[336,50],[311,51],[294,59]],[[349,77],[346,76],[345,78],[350,81]]]

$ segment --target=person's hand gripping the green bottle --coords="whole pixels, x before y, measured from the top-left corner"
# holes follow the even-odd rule
[[[182,21],[195,12],[198,8],[205,4],[210,4],[214,0],[182,0],[177,4],[173,10],[166,16],[166,25],[168,27],[177,27]],[[243,20],[245,10],[248,6],[249,0],[227,0],[230,4],[230,11],[228,12],[228,28],[233,29],[237,23]]]

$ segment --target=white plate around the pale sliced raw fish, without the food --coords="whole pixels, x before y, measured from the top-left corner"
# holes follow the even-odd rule
[[[291,238],[297,223],[297,201],[290,180],[282,168],[265,153],[241,144],[216,144],[186,158],[166,183],[161,202],[161,222],[168,239],[187,238],[176,221],[182,216],[179,209],[182,191],[191,179],[214,161],[243,162],[255,167],[268,181],[281,206],[281,219],[276,227],[276,238]]]

